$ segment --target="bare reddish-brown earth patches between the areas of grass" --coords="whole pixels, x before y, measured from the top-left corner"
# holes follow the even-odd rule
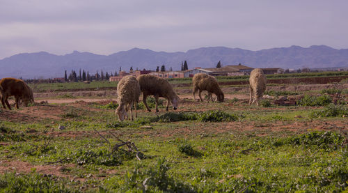
[[[348,88],[348,84],[310,84],[310,85],[290,85],[290,86],[269,86],[269,90],[275,91],[311,91],[321,90],[324,88]],[[191,95],[190,89],[179,89],[180,98],[182,99],[182,108],[178,111],[189,111],[189,109],[196,109],[197,105],[202,105],[202,102],[193,101],[193,95]],[[238,98],[239,104],[242,107],[248,103],[248,87],[223,87],[223,91],[226,94],[227,99]],[[233,93],[238,91],[239,93]],[[72,93],[72,95],[78,95],[79,97],[88,98],[65,98],[65,99],[52,99],[56,95],[64,95],[66,93]],[[44,119],[49,119],[51,124],[47,125],[50,129],[49,132],[36,131],[35,134],[46,134],[52,137],[63,137],[67,139],[83,139],[83,138],[97,138],[101,139],[99,134],[94,131],[77,130],[77,131],[61,131],[58,130],[56,121],[61,121],[63,118],[61,114],[64,114],[68,107],[79,107],[81,109],[87,109],[88,111],[113,111],[111,109],[98,109],[93,107],[93,104],[106,105],[111,101],[116,100],[116,96],[111,99],[102,98],[103,96],[114,95],[112,92],[106,91],[77,91],[77,92],[64,92],[64,93],[35,93],[36,98],[47,98],[45,100],[36,100],[38,102],[35,106],[26,107],[15,110],[1,109],[0,121],[12,121],[15,123],[33,123],[40,122]],[[204,94],[203,94],[204,95]],[[98,98],[91,98],[91,96],[97,96]],[[198,98],[198,97],[197,97]],[[187,100],[184,100],[187,99]],[[40,104],[40,102],[43,104]],[[48,102],[48,104],[45,103]],[[13,101],[12,101],[13,102]],[[67,103],[67,105],[49,105],[50,103]],[[232,109],[241,108],[241,106],[235,106],[233,103],[227,103],[228,107]],[[315,108],[315,107],[314,107]],[[278,108],[279,109],[279,108]],[[163,110],[163,109],[161,109]],[[196,111],[206,111],[205,109],[196,109]],[[264,110],[264,109],[260,109]],[[284,109],[286,110],[286,109]],[[140,110],[145,113],[145,109]],[[153,112],[155,114],[155,112]],[[155,123],[156,124],[156,123]],[[259,123],[258,121],[243,121],[243,122],[231,122],[231,123],[216,123],[213,126],[207,127],[204,123],[196,123],[192,126],[182,126],[175,129],[151,129],[151,128],[139,128],[137,130],[127,130],[122,133],[114,131],[118,136],[123,139],[132,139],[134,137],[158,137],[158,138],[172,138],[172,137],[184,137],[189,139],[192,136],[209,136],[210,134],[238,134],[242,136],[254,135],[264,136],[269,135],[272,132],[293,132],[303,133],[308,130],[338,130],[339,132],[347,133],[348,119],[340,119],[339,121],[330,121],[329,123],[322,120],[303,121],[303,118],[298,117],[295,121],[272,121],[269,123]],[[108,131],[100,131],[100,134],[107,136]],[[102,139],[101,139],[102,140]],[[7,143],[1,143],[0,146],[7,146]],[[29,162],[22,162],[17,160],[2,160],[0,161],[0,173],[6,173],[8,171],[15,171],[19,173],[30,173],[35,170],[38,173],[44,173],[54,176],[68,177],[74,180],[85,180],[85,178],[76,178],[70,176],[68,172],[65,172],[59,167],[65,167],[65,169],[71,169],[79,167],[76,164],[42,164],[35,165]],[[116,171],[107,171],[107,173],[115,173]],[[93,178],[97,178],[94,177]]]

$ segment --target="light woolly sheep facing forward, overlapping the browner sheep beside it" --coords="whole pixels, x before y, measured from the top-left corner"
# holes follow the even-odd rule
[[[128,118],[127,112],[129,108],[131,111],[131,121],[133,121],[133,105],[135,106],[135,117],[137,117],[136,105],[139,102],[140,93],[140,86],[135,77],[125,76],[118,82],[118,108],[116,109],[116,114],[120,121],[123,121],[125,116]]]

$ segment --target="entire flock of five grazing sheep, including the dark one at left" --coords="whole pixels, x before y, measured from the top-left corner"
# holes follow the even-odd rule
[[[216,95],[216,100],[223,102],[224,95],[223,91],[216,81],[215,77],[206,75],[204,73],[199,73],[193,76],[193,98],[196,100],[195,94],[198,92],[200,100],[203,102],[201,93],[202,91],[208,92],[208,99],[214,101],[212,94]],[[250,100],[249,104],[256,102],[257,105],[264,91],[266,90],[267,79],[261,69],[255,68],[250,75]],[[1,103],[3,108],[11,109],[8,103],[8,97],[14,96],[16,107],[19,108],[19,103],[22,101],[27,107],[29,102],[34,102],[33,91],[31,88],[22,81],[22,79],[14,78],[3,78],[0,80],[0,93],[2,95]],[[139,102],[139,96],[143,93],[143,103],[148,109],[148,104],[146,103],[146,98],[148,95],[153,95],[156,101],[156,111],[158,110],[159,97],[166,98],[168,100],[166,111],[168,111],[169,103],[173,105],[173,109],[177,109],[179,105],[180,98],[174,92],[173,87],[166,79],[155,77],[153,75],[140,75],[139,77],[126,76],[123,77],[117,86],[118,94],[118,108],[116,109],[116,114],[120,121],[129,118],[128,111],[131,111],[130,120],[133,120],[133,107],[135,107],[135,117],[136,115],[136,105]]]

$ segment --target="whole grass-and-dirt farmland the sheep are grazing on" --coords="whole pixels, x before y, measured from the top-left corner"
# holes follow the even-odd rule
[[[190,79],[171,79],[179,109],[160,105],[159,113],[148,112],[141,102],[136,121],[124,122],[114,113],[115,82],[30,85],[34,105],[0,109],[0,190],[347,190],[348,84],[275,82],[258,107],[248,105],[246,84],[223,84],[247,80],[235,78],[219,78],[226,95],[221,103],[197,102]]]

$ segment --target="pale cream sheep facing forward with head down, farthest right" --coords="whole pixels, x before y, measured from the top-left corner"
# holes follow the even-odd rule
[[[260,68],[255,68],[251,71],[250,78],[250,100],[249,105],[256,102],[259,105],[259,100],[262,98],[264,91],[266,91],[267,79],[264,76],[263,71]]]

